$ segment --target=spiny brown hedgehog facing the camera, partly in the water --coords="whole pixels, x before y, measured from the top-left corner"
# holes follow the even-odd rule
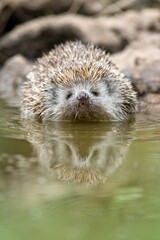
[[[130,80],[93,44],[66,42],[37,59],[21,88],[24,118],[124,121],[137,97]]]

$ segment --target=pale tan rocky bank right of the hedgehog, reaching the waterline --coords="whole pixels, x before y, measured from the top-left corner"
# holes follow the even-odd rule
[[[141,112],[160,113],[160,34],[141,33],[112,60],[130,77]]]

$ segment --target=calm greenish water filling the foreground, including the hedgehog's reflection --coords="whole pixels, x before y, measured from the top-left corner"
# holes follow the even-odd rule
[[[24,122],[0,102],[0,239],[160,239],[160,118]]]

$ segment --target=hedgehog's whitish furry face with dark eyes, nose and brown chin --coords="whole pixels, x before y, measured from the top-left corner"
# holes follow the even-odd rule
[[[134,106],[133,99],[127,100],[125,93],[126,89],[122,91],[121,85],[107,79],[78,81],[58,90],[54,87],[45,103],[47,107],[43,117],[73,121],[123,120],[128,109]]]

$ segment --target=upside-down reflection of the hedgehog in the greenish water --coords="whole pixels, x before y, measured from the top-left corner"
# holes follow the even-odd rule
[[[105,182],[125,159],[133,138],[133,125],[34,124],[41,131],[30,129],[29,141],[42,169],[58,180],[85,185]]]

